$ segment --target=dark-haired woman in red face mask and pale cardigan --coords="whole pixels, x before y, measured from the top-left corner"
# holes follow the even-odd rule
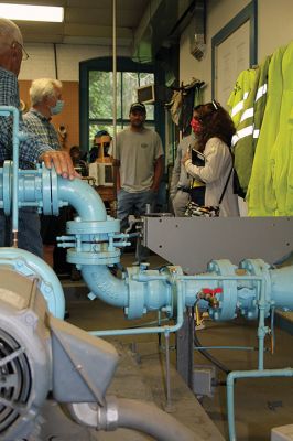
[[[221,193],[220,216],[239,216],[237,196],[232,191],[231,138],[235,127],[228,112],[216,101],[207,103],[198,109],[197,118],[192,121],[197,132],[197,150],[203,162],[192,160],[191,152],[183,159],[186,172],[205,183],[206,206],[218,206]]]

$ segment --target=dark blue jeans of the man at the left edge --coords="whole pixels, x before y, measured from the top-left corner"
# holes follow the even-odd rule
[[[0,247],[12,245],[12,219],[0,209]],[[34,207],[19,211],[19,248],[43,258],[43,244],[40,234],[40,217]]]

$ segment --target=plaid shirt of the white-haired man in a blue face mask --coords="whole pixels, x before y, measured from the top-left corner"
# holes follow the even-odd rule
[[[58,135],[50,119],[44,117],[40,111],[31,108],[28,114],[23,115],[23,122],[30,133],[37,135],[39,140],[43,144],[48,144],[54,150],[61,150]]]

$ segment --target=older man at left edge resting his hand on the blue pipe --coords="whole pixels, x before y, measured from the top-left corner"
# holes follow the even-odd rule
[[[0,18],[0,106],[20,107],[18,75],[21,62],[28,56],[23,49],[20,29],[12,21]],[[21,119],[21,118],[20,118]],[[20,129],[24,130],[20,120]],[[0,117],[0,166],[12,159],[12,118]],[[57,174],[74,179],[76,172],[70,157],[65,151],[55,151],[42,144],[36,136],[29,135],[20,142],[20,168],[31,169],[37,161],[44,161],[50,169],[54,164]],[[8,227],[10,219],[0,211],[0,246],[9,245]],[[43,255],[39,215],[34,208],[21,208],[19,215],[19,247],[40,257]]]

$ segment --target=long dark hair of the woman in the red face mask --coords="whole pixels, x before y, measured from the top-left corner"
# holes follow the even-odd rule
[[[214,137],[230,147],[236,129],[228,111],[215,100],[200,106],[196,111],[202,125],[198,133],[198,150],[204,151],[207,141]]]

